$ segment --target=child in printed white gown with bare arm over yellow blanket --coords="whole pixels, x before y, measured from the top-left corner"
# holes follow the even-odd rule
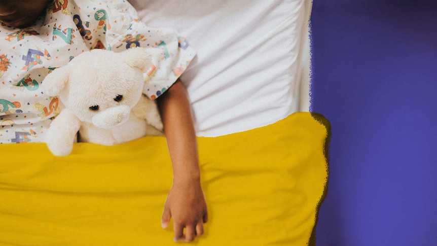
[[[174,172],[162,226],[173,217],[174,240],[192,241],[203,234],[207,211],[190,103],[178,77],[195,52],[174,31],[136,18],[123,0],[0,1],[0,143],[44,142],[59,113],[41,84],[52,69],[90,49],[151,48],[158,56],[143,92],[158,101]]]

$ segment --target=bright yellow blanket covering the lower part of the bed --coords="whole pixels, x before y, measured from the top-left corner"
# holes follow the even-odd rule
[[[199,137],[208,205],[199,245],[306,245],[326,192],[329,123],[296,113]],[[0,146],[0,245],[175,245],[161,228],[172,168],[165,138],[116,146]],[[171,224],[171,223],[170,223]]]

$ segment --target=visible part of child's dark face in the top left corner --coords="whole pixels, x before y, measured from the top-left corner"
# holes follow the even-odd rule
[[[8,26],[28,27],[45,13],[47,6],[51,3],[53,0],[2,0],[0,1],[0,21]]]

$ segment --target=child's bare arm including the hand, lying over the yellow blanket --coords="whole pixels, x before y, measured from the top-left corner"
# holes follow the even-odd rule
[[[200,187],[197,140],[190,103],[179,80],[157,100],[173,164],[173,186],[164,206],[162,226],[166,228],[173,217],[174,240],[192,241],[203,234],[207,210]]]

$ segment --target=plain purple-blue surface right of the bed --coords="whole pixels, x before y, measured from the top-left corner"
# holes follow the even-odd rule
[[[317,245],[437,245],[437,1],[314,0],[311,25],[332,125]]]

